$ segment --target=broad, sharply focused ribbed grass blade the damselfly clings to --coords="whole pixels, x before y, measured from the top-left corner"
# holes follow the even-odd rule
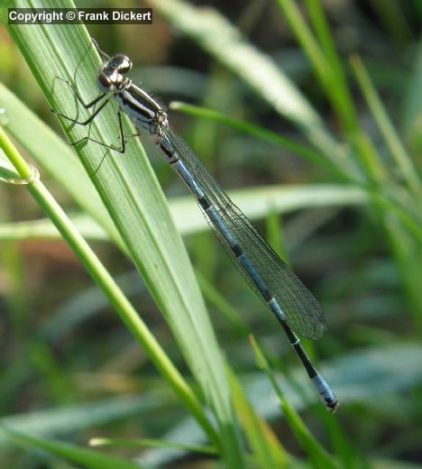
[[[68,1],[59,4],[22,1],[16,5],[73,6]],[[99,58],[82,26],[16,25],[9,26],[9,32],[52,108],[59,108],[65,114],[76,113],[69,89],[55,87],[58,76],[72,82],[77,79],[79,92],[86,102],[97,95],[95,80]],[[66,127],[73,142],[87,132],[87,129],[77,127]],[[109,108],[98,116],[92,125],[91,135],[105,143],[115,143],[110,142],[116,134],[115,129],[115,111]],[[126,119],[124,131],[126,134],[133,133]],[[78,156],[88,173],[91,176],[95,174],[92,179],[96,190],[216,414],[225,458],[231,464],[242,467],[242,452],[223,359],[186,249],[171,222],[165,199],[141,144],[131,139],[124,157],[110,153],[107,158],[104,158],[104,148],[87,144],[78,147]]]

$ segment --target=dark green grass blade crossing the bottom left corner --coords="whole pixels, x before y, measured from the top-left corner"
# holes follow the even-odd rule
[[[2,435],[13,442],[14,445],[22,446],[23,448],[42,449],[51,455],[58,455],[69,461],[69,463],[78,464],[87,469],[142,469],[142,467],[146,467],[141,464],[130,463],[123,458],[112,455],[101,455],[92,449],[32,437],[0,427],[0,436]]]

